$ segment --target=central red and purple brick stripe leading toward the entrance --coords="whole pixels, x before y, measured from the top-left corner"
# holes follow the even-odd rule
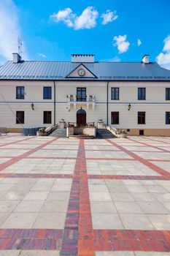
[[[84,141],[80,140],[60,255],[95,255]]]

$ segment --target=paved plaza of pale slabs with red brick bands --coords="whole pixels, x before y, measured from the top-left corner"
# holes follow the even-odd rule
[[[0,137],[0,256],[170,255],[170,138]]]

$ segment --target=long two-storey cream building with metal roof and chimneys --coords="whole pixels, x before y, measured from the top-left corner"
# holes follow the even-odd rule
[[[77,120],[82,108],[86,120]],[[0,67],[0,127],[49,127],[97,122],[129,135],[170,136],[170,71],[144,56],[139,62],[13,61]]]

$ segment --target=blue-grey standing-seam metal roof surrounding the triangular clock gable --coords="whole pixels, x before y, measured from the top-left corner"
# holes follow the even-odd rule
[[[67,61],[7,61],[0,80],[170,80],[170,70],[155,62],[82,63],[97,78],[66,78],[80,63]]]

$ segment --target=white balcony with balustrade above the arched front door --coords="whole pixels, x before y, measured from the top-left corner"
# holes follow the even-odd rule
[[[67,103],[69,109],[72,106],[76,109],[77,105],[85,105],[87,109],[91,106],[91,108],[94,109],[96,105],[96,97],[94,95],[83,95],[77,97],[77,95],[69,94],[67,95]]]

